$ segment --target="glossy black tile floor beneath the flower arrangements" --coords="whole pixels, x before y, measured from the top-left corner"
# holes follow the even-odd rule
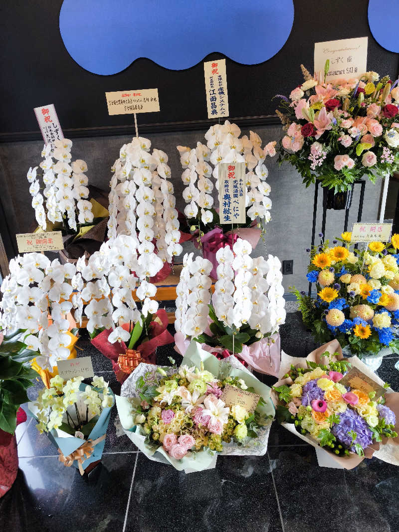
[[[173,330],[171,330],[173,332]],[[287,314],[281,345],[293,356],[315,347],[297,313]],[[110,362],[87,339],[97,375],[120,386]],[[180,363],[172,346],[157,351]],[[378,375],[399,391],[397,357],[385,358]],[[258,375],[259,376],[259,375]],[[259,376],[265,383],[276,379]],[[39,382],[28,390],[36,398]],[[219,456],[214,469],[178,472],[152,462],[127,436],[118,436],[116,409],[107,430],[102,463],[89,477],[59,462],[56,448],[28,418],[16,431],[20,470],[0,499],[0,530],[397,532],[399,468],[377,458],[347,471],[320,468],[313,447],[273,423],[265,456]]]

